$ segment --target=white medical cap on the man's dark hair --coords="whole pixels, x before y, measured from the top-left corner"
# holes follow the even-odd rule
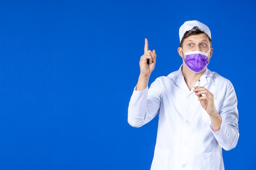
[[[204,33],[206,33],[209,36],[209,38],[211,38],[211,31],[208,28],[208,26],[206,26],[205,24],[197,20],[192,20],[192,21],[186,21],[184,22],[184,24],[182,24],[182,26],[180,26],[180,31],[179,31],[180,42],[182,40],[184,33],[186,33],[186,31],[193,29],[194,26],[198,26],[198,28],[201,31],[204,31]]]

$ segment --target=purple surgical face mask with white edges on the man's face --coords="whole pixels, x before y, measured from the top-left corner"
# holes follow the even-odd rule
[[[209,64],[208,53],[204,53],[202,51],[186,52],[185,64],[191,71],[195,73],[200,73]]]

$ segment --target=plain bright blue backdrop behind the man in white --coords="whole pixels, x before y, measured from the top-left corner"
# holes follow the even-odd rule
[[[238,97],[240,138],[226,170],[255,169],[255,0],[0,3],[0,170],[149,170],[157,119],[127,123],[144,38],[155,78],[182,64],[178,29],[211,29],[208,68]],[[221,88],[221,87],[220,87]]]

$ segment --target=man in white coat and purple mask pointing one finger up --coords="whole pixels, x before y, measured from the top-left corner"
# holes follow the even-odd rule
[[[159,113],[151,170],[224,170],[222,148],[238,142],[237,98],[231,82],[207,68],[211,32],[196,20],[180,27],[178,71],[158,77],[148,88],[156,52],[139,61],[140,75],[128,107],[128,123],[140,127]]]

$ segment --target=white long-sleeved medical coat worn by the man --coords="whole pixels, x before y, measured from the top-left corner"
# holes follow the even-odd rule
[[[201,86],[213,93],[216,110],[222,117],[220,130],[213,132],[209,115],[193,89],[189,91],[181,68],[158,77],[149,89],[134,89],[128,123],[140,127],[159,113],[151,170],[224,170],[222,148],[231,150],[239,137],[234,87],[228,79],[208,69],[200,77]]]

